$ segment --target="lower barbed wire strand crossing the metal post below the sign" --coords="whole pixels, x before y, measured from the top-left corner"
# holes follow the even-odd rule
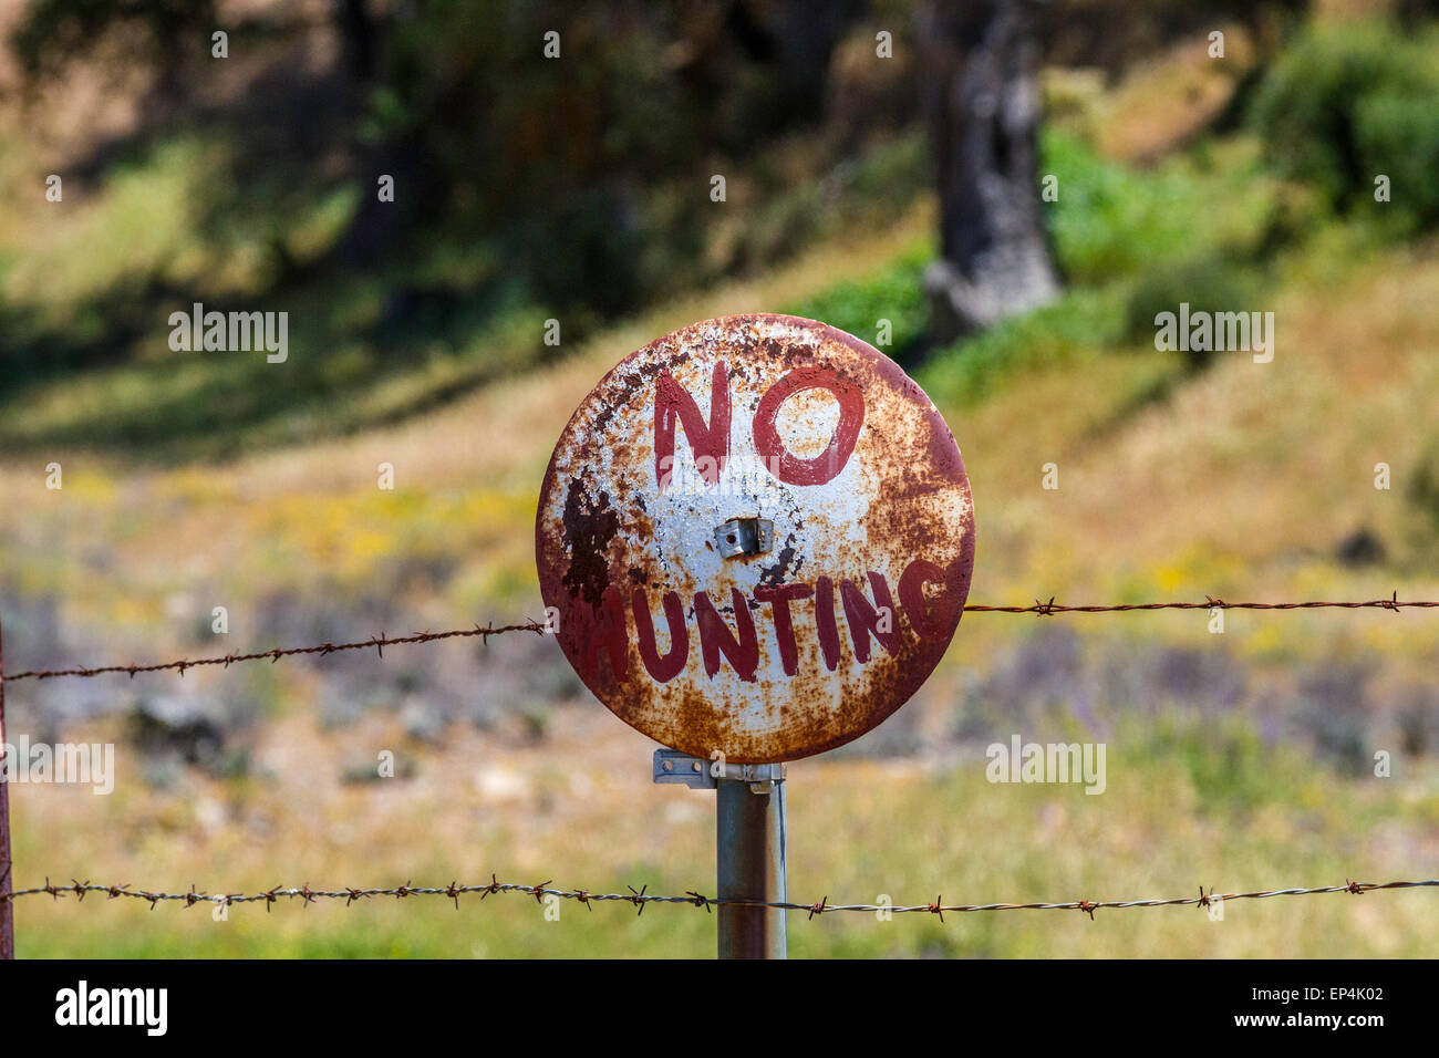
[[[701,892],[691,891],[685,892],[682,897],[659,895],[655,892],[648,892],[648,885],[639,890],[633,887],[629,892],[590,892],[587,890],[557,890],[550,888],[550,882],[544,881],[538,885],[521,885],[515,882],[502,882],[491,875],[488,884],[479,885],[458,885],[450,882],[449,885],[410,885],[407,881],[404,885],[397,885],[394,888],[338,888],[338,890],[312,890],[309,882],[305,882],[299,888],[279,888],[265,890],[262,892],[199,892],[194,885],[190,887],[189,892],[160,892],[151,890],[137,890],[128,882],[124,885],[99,885],[91,881],[76,881],[71,880],[69,885],[53,885],[49,877],[45,880],[45,885],[36,885],[27,890],[16,890],[14,892],[0,895],[0,901],[16,900],[17,897],[37,897],[47,895],[53,900],[59,900],[66,895],[76,895],[79,901],[91,892],[104,892],[109,900],[118,897],[130,897],[132,900],[142,900],[150,904],[150,910],[154,910],[157,904],[163,901],[181,901],[186,907],[193,907],[196,904],[252,904],[258,901],[265,901],[265,910],[269,911],[278,900],[302,900],[308,907],[317,900],[342,900],[345,907],[350,907],[357,900],[367,900],[371,897],[445,897],[455,903],[455,910],[459,910],[459,898],[462,895],[479,894],[481,900],[485,900],[494,894],[522,894],[534,897],[541,904],[545,897],[558,897],[561,900],[573,900],[590,907],[591,903],[604,901],[619,901],[623,904],[632,904],[639,908],[637,914],[643,914],[649,904],[688,904],[695,908],[704,908],[712,911],[717,907],[767,907],[781,911],[804,911],[809,918],[816,915],[827,914],[830,911],[859,911],[865,914],[873,914],[876,911],[888,911],[892,914],[935,914],[940,915],[941,921],[945,911],[953,911],[957,914],[971,913],[971,911],[1084,911],[1094,918],[1094,913],[1099,910],[1124,910],[1132,907],[1181,907],[1194,904],[1202,908],[1212,907],[1213,904],[1230,901],[1230,900],[1266,900],[1269,897],[1312,897],[1324,892],[1350,892],[1353,895],[1363,895],[1364,892],[1377,892],[1380,890],[1410,890],[1410,888],[1425,888],[1425,887],[1439,887],[1439,878],[1425,878],[1420,881],[1390,881],[1390,882],[1357,882],[1345,880],[1343,885],[1320,885],[1317,888],[1285,888],[1285,890],[1258,890],[1255,892],[1220,892],[1216,894],[1213,887],[1209,892],[1204,892],[1204,887],[1199,887],[1197,897],[1164,897],[1164,898],[1145,898],[1145,900],[1069,900],[1063,903],[1052,904],[945,904],[944,897],[935,898],[932,904],[830,904],[829,897],[817,900],[812,904],[794,903],[794,901],[764,901],[764,900],[721,900],[718,897],[707,897]],[[590,908],[593,910],[593,908]]]

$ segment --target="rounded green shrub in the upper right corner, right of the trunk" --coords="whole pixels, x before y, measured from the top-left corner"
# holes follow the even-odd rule
[[[1410,223],[1439,220],[1439,63],[1435,37],[1383,22],[1309,30],[1261,83],[1249,121],[1265,158],[1315,186],[1328,206],[1374,206],[1374,178],[1393,180]]]

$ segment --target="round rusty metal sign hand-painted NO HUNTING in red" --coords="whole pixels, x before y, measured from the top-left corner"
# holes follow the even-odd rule
[[[632,353],[564,428],[540,590],[632,727],[734,763],[840,746],[944,655],[974,564],[954,436],[879,351],[740,315]]]

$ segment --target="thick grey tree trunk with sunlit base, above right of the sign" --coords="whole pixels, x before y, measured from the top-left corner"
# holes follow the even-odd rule
[[[1039,0],[934,0],[920,17],[940,191],[931,341],[1059,295],[1039,199]]]

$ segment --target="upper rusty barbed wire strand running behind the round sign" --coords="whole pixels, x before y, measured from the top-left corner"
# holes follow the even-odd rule
[[[1400,600],[1399,592],[1394,592],[1389,599],[1368,599],[1364,602],[1289,602],[1289,603],[1229,603],[1223,599],[1216,599],[1213,596],[1204,596],[1204,602],[1168,602],[1168,603],[1115,603],[1115,605],[1101,605],[1101,606],[1069,606],[1066,603],[1056,603],[1050,596],[1049,602],[1035,600],[1033,606],[981,606],[977,603],[967,605],[964,607],[966,613],[1035,613],[1039,616],[1050,616],[1055,613],[1125,613],[1130,610],[1318,610],[1318,609],[1344,609],[1344,610],[1360,610],[1360,609],[1377,609],[1377,610],[1399,610],[1406,609],[1439,609],[1439,602],[1433,600]],[[386,646],[400,646],[406,643],[432,643],[439,639],[456,639],[465,636],[479,636],[484,642],[489,642],[491,636],[504,635],[507,632],[535,632],[538,635],[545,635],[550,632],[550,626],[538,620],[524,620],[518,625],[475,625],[473,628],[452,629],[449,632],[413,632],[404,636],[387,636],[380,633],[377,636],[370,636],[368,639],[360,639],[350,643],[318,643],[314,646],[276,646],[269,651],[253,651],[249,654],[223,654],[213,658],[186,658],[180,661],[165,661],[150,665],[128,664],[128,665],[96,665],[96,666],[73,666],[73,668],[59,668],[59,669],[30,669],[27,672],[14,672],[0,675],[0,681],[12,684],[19,679],[55,679],[58,677],[98,677],[106,672],[124,672],[131,678],[138,672],[161,672],[167,669],[177,671],[181,677],[186,669],[200,668],[206,665],[223,665],[229,668],[233,664],[243,661],[271,661],[276,662],[281,658],[289,658],[299,654],[337,654],[340,651],[367,651],[374,648],[374,651],[384,658]]]

